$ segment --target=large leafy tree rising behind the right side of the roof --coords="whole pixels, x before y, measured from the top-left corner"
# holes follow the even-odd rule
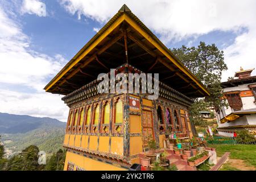
[[[224,62],[224,53],[220,51],[215,44],[207,45],[200,42],[197,47],[174,48],[171,50],[176,57],[195,75],[209,90],[210,96],[205,97],[204,101],[199,99],[191,106],[191,117],[199,119],[199,113],[202,105],[213,105],[216,110],[222,106],[228,106],[223,98],[221,88],[222,72],[228,69]],[[205,102],[203,104],[202,102]],[[197,109],[198,107],[198,109]],[[200,123],[197,122],[197,123]]]

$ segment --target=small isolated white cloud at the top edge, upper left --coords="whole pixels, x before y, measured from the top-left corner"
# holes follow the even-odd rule
[[[22,14],[36,14],[38,16],[46,16],[46,4],[40,0],[23,0]]]

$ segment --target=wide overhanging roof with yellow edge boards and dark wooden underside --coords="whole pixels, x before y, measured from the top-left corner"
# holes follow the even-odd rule
[[[46,92],[68,94],[123,63],[146,73],[188,97],[204,97],[205,86],[163,45],[126,5],[46,85]]]

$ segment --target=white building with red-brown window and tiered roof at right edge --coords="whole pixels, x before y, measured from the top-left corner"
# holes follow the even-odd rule
[[[216,111],[220,135],[233,137],[234,131],[243,129],[256,132],[256,76],[251,76],[253,70],[241,68],[233,79],[221,83],[229,107]]]

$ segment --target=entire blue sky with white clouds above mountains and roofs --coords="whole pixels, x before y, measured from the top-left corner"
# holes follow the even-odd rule
[[[147,3],[145,3],[147,2]],[[256,2],[3,0],[0,2],[0,112],[65,121],[68,107],[44,85],[126,3],[168,48],[215,43],[229,70],[254,68]],[[50,103],[50,104],[49,104]]]

